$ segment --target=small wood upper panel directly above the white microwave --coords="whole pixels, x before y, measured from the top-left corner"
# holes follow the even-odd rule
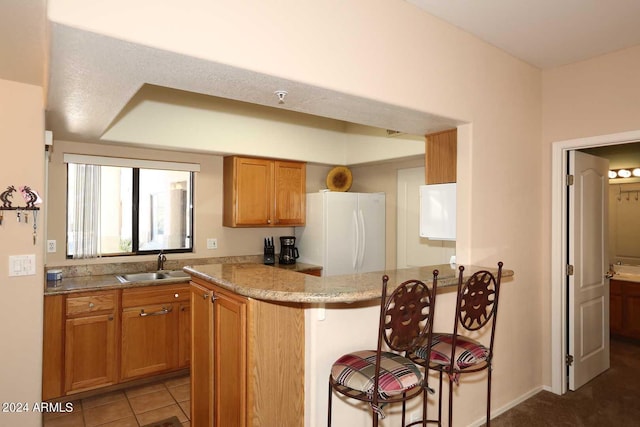
[[[425,183],[456,182],[458,130],[452,129],[426,135]]]

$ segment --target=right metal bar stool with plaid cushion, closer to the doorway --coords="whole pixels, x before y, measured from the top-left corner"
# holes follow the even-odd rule
[[[463,283],[464,267],[459,267],[458,296],[453,333],[434,332],[431,343],[425,341],[407,353],[412,361],[429,366],[439,373],[438,421],[442,423],[442,376],[449,377],[449,426],[453,425],[453,383],[459,384],[462,374],[487,370],[487,426],[491,423],[491,371],[493,340],[498,313],[498,296],[502,278],[502,262],[497,277],[486,270],[477,271]],[[490,328],[489,346],[458,333],[477,332]],[[429,348],[430,347],[430,348]],[[426,361],[429,361],[427,364]]]

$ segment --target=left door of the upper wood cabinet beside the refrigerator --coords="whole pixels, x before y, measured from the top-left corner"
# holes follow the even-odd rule
[[[270,225],[273,218],[273,162],[242,157],[232,160],[234,182],[230,191],[233,201],[227,206],[225,200],[225,209],[234,209],[234,225]]]

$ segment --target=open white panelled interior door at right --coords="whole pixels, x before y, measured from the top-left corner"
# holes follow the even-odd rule
[[[609,161],[569,152],[569,389],[609,369]]]

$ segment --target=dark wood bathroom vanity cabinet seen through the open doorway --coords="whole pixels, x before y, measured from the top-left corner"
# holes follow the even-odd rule
[[[611,334],[640,339],[640,283],[611,279],[610,290]]]

